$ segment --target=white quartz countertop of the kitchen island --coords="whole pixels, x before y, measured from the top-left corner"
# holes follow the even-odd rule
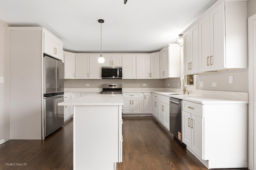
[[[122,94],[94,94],[58,103],[58,106],[120,106]]]

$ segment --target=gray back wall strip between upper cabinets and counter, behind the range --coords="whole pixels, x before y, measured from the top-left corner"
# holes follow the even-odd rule
[[[163,88],[164,80],[65,80],[64,88],[102,88],[102,84],[122,84],[122,88]],[[90,86],[86,86],[89,84]],[[146,86],[143,86],[146,84]]]

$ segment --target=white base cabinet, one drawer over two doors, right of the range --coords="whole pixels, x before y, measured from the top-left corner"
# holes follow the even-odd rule
[[[143,93],[123,93],[123,114],[143,113]]]

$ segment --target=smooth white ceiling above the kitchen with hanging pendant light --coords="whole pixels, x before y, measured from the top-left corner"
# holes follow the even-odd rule
[[[0,19],[13,26],[42,26],[64,50],[151,53],[175,43],[217,0],[1,0]]]

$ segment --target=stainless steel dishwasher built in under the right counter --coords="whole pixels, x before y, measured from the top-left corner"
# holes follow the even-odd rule
[[[181,110],[182,110],[182,100],[176,99],[176,98],[170,98],[170,132],[180,142],[182,141]]]

